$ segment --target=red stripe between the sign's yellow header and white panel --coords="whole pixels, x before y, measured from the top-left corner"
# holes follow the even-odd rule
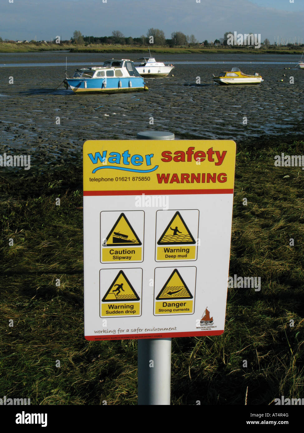
[[[233,194],[233,189],[143,190],[143,191],[83,191],[83,195],[164,195],[164,194]]]

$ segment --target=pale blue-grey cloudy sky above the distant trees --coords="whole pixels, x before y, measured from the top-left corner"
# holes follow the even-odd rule
[[[197,0],[198,1],[198,0]],[[150,27],[167,38],[174,31],[209,41],[224,32],[261,33],[262,41],[303,38],[304,0],[1,0],[0,36],[5,39],[69,39],[83,35],[146,35]]]

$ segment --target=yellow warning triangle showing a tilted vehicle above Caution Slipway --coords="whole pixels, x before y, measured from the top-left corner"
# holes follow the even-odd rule
[[[139,246],[141,241],[134,232],[131,224],[124,213],[121,213],[118,220],[110,230],[102,246]]]

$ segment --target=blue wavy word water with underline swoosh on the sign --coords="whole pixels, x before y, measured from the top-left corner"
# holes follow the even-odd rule
[[[125,150],[121,154],[120,152],[109,152],[108,156],[107,153],[108,151],[106,150],[102,151],[102,153],[95,152],[94,156],[92,153],[88,153],[88,157],[91,159],[93,164],[101,163],[101,165],[92,170],[92,173],[96,173],[96,171],[101,170],[102,168],[134,171],[135,173],[150,173],[151,171],[154,171],[158,168],[158,165],[154,165],[154,167],[149,168],[149,166],[152,165],[151,159],[154,157],[153,153],[147,155],[135,154],[132,156],[128,150]],[[147,168],[135,168],[141,166],[142,164],[146,165]]]

